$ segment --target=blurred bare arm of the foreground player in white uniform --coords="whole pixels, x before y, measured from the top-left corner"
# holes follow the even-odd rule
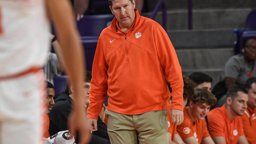
[[[45,0],[49,18],[54,23],[58,40],[63,51],[67,74],[74,88],[74,107],[69,118],[69,130],[75,135],[80,132],[81,143],[89,140],[89,130],[86,127],[84,109],[83,81],[84,57],[79,35],[72,17],[72,8],[67,0]]]

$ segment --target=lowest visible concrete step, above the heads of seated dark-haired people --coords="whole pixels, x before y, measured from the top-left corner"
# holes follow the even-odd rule
[[[182,73],[203,72],[213,78],[215,85],[220,80],[226,61],[234,55],[234,48],[205,48],[176,50]]]

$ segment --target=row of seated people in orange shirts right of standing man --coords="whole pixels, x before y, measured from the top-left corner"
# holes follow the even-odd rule
[[[201,77],[195,79],[198,75]],[[193,73],[189,78],[194,85],[189,86],[189,82],[184,81],[184,101],[186,97],[189,98],[184,108],[184,122],[177,127],[171,124],[168,128],[170,144],[256,143],[256,78],[248,79],[245,88],[230,88],[225,104],[211,111],[210,107],[217,101],[210,91],[211,77],[203,73]],[[209,81],[208,86],[206,81]],[[191,87],[195,89],[194,94]],[[192,94],[186,96],[188,90]]]

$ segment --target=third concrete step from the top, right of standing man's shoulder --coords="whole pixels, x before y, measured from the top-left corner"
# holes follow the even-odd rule
[[[234,47],[233,29],[173,30],[167,32],[176,49]]]

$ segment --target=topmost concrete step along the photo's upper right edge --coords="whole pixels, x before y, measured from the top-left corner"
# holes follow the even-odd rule
[[[188,0],[164,0],[167,9],[187,9]],[[146,2],[146,1],[145,1]],[[145,6],[153,11],[157,0],[147,0]],[[193,9],[208,8],[255,8],[255,0],[192,0]]]

